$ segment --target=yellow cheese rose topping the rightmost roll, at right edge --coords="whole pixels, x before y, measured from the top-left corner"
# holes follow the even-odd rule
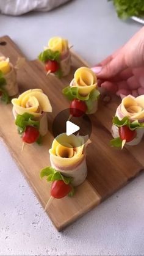
[[[121,112],[132,120],[144,119],[144,95],[137,98],[128,95],[121,101]]]

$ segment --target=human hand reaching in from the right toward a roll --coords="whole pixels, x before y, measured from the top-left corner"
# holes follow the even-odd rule
[[[144,94],[144,27],[92,70],[99,86],[118,96]]]

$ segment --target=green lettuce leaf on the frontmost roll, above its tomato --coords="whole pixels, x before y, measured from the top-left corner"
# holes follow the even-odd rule
[[[51,166],[45,167],[41,170],[40,177],[43,178],[45,176],[47,177],[47,181],[63,180],[65,184],[69,184],[73,180],[71,177],[65,177],[58,170],[52,168]]]

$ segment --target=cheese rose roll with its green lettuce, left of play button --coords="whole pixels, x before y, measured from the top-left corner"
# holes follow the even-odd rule
[[[27,90],[18,98],[13,98],[12,104],[15,123],[20,128],[19,131],[23,133],[27,128],[26,124],[28,126],[36,125],[40,136],[46,135],[48,132],[48,112],[52,112],[52,107],[43,90]]]

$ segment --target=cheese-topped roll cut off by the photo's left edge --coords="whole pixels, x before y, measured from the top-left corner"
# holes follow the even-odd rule
[[[9,58],[4,56],[0,57],[0,71],[3,78],[5,79],[4,86],[1,89],[1,92],[7,95],[8,97],[13,97],[18,94],[18,84],[16,82],[16,70],[13,65],[10,63]]]

